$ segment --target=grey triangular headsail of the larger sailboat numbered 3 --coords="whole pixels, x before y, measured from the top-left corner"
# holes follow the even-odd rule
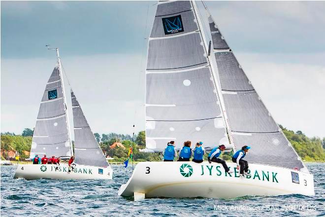
[[[236,149],[239,150],[243,145],[251,146],[251,152],[246,158],[252,163],[304,168],[300,157],[264,106],[210,14],[209,25],[230,134]]]

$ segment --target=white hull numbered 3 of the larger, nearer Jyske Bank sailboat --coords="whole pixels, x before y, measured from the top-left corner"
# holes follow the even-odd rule
[[[183,164],[189,166],[181,170]],[[235,163],[227,162],[230,170]],[[193,173],[189,173],[192,167]],[[236,198],[246,195],[277,196],[285,194],[315,195],[312,174],[286,168],[249,164],[251,176],[239,177],[239,171],[226,176],[221,164],[203,162],[141,162],[119,195],[137,198],[206,197]],[[183,172],[182,172],[183,171]],[[298,174],[299,183],[292,181]],[[183,174],[183,175],[182,175]],[[297,182],[297,181],[295,181]]]

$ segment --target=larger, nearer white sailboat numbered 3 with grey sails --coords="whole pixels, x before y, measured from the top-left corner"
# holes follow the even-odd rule
[[[206,8],[207,12],[208,9]],[[249,175],[221,164],[140,162],[118,194],[152,197],[235,198],[314,195],[314,178],[262,103],[212,16],[207,42],[195,1],[159,1],[148,41],[146,148],[169,141],[202,141],[228,150],[251,146]]]

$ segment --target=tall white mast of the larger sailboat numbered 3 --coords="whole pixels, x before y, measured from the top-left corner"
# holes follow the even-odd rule
[[[212,78],[213,78],[213,83],[214,83],[214,85],[215,85],[215,87],[217,89],[217,95],[218,95],[219,102],[220,102],[220,106],[221,106],[221,110],[222,110],[222,113],[223,113],[223,119],[224,119],[224,122],[226,124],[226,131],[227,131],[227,135],[228,135],[228,140],[229,140],[230,145],[232,145],[232,148],[234,149],[234,152],[235,152],[236,151],[236,148],[234,146],[233,139],[232,139],[232,136],[230,134],[231,131],[230,131],[229,123],[227,121],[228,120],[227,119],[227,113],[226,113],[226,109],[225,109],[224,99],[223,99],[222,93],[221,93],[221,88],[219,86],[219,83],[217,82],[216,74],[215,74],[215,71],[214,71],[214,67],[213,67],[213,65],[211,63],[211,56],[208,55],[208,53],[209,53],[208,52],[208,45],[206,44],[206,41],[205,41],[205,35],[204,35],[204,31],[202,29],[201,20],[199,18],[198,13],[197,13],[197,8],[196,8],[195,1],[192,0],[191,2],[192,2],[192,5],[193,5],[195,17],[196,17],[196,20],[197,20],[197,25],[198,25],[198,28],[200,30],[200,36],[201,36],[202,41],[203,41],[203,44],[204,44],[203,47],[204,47],[205,53],[207,55],[208,63],[209,63],[209,66],[210,66],[210,70],[211,70],[211,74],[212,74]]]

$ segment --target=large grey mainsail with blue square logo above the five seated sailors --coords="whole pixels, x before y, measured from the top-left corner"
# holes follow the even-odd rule
[[[148,45],[146,149],[173,140],[229,144],[198,17],[191,1],[160,1]]]

